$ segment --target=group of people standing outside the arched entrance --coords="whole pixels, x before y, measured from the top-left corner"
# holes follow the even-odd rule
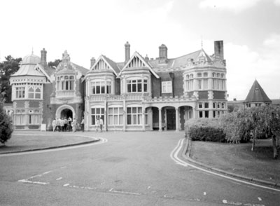
[[[83,130],[83,120],[80,123],[82,130]],[[72,118],[69,116],[69,118],[67,119],[66,117],[64,118],[57,118],[54,119],[52,121],[52,131],[58,131],[58,132],[76,132],[76,128],[77,128],[77,120],[76,118]]]

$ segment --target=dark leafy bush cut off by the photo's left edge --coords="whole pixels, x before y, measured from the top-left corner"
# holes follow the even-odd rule
[[[3,104],[0,102],[0,142],[4,144],[12,137],[13,123],[12,119],[3,110]]]

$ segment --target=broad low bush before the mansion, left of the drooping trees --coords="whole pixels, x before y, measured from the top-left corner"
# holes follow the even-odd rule
[[[186,133],[192,140],[225,142],[225,133],[218,119],[190,119],[186,122]]]

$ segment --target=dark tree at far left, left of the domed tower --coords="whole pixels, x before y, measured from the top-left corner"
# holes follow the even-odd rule
[[[5,57],[6,61],[0,62],[0,93],[6,102],[11,102],[12,90],[10,87],[10,75],[20,69],[22,58],[13,58],[11,55]]]

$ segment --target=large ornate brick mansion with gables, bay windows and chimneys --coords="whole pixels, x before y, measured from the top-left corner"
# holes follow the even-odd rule
[[[228,111],[223,41],[214,42],[214,55],[201,48],[176,58],[167,46],[150,59],[137,51],[125,61],[101,55],[90,69],[70,60],[48,67],[47,51],[27,55],[10,76],[15,130],[51,130],[55,118],[85,120],[85,131],[104,121],[104,130],[184,130],[190,118],[216,118]]]

